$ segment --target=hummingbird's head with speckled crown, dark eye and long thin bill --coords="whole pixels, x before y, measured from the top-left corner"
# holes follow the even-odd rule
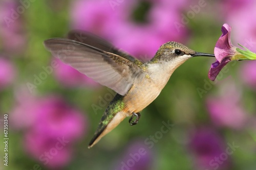
[[[155,62],[171,61],[180,65],[187,59],[196,56],[215,57],[214,54],[195,52],[181,43],[170,41],[160,46],[153,60]]]

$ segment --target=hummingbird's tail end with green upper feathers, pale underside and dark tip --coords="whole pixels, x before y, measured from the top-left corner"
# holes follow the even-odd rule
[[[125,117],[127,117],[127,113],[124,111],[122,98],[122,95],[116,94],[113,101],[109,104],[108,108],[106,108],[101,117],[98,129],[90,141],[88,148],[92,148],[104,135],[112,131]]]

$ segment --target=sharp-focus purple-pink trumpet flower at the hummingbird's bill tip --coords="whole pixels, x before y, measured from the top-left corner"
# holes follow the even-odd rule
[[[244,57],[239,52],[237,52],[237,47],[233,46],[230,40],[231,27],[226,23],[221,28],[222,35],[217,41],[214,54],[217,59],[215,63],[211,64],[210,70],[208,72],[208,77],[210,80],[214,81],[218,76],[221,69],[231,60],[236,60],[239,57]]]

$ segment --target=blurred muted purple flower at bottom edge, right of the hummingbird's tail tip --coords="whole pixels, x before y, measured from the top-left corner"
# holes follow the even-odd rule
[[[133,141],[129,147],[127,147],[121,159],[117,161],[119,163],[117,168],[114,169],[151,169],[153,159],[153,153],[148,149],[148,146],[144,144],[144,141]]]

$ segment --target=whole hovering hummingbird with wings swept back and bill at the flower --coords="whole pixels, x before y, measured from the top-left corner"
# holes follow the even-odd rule
[[[117,93],[104,111],[88,148],[125,117],[130,117],[130,125],[136,125],[140,112],[157,98],[175,69],[186,60],[215,57],[170,41],[161,45],[151,60],[141,61],[110,42],[81,31],[71,31],[68,38],[45,40],[44,45],[54,57]]]

